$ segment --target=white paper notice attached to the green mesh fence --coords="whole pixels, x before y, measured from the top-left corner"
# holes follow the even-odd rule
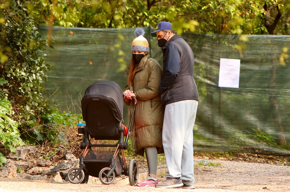
[[[219,87],[239,88],[240,59],[220,58]]]

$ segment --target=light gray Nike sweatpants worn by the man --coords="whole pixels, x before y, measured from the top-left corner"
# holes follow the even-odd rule
[[[194,185],[193,125],[197,100],[183,100],[165,107],[162,143],[168,173],[166,178],[181,177],[186,185]]]

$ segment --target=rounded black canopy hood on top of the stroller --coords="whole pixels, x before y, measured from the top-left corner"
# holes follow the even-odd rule
[[[97,81],[90,85],[81,99],[81,110],[83,119],[86,120],[86,106],[88,103],[98,100],[110,102],[110,108],[115,118],[120,122],[123,117],[122,90],[114,81]],[[96,109],[97,110],[97,109]]]

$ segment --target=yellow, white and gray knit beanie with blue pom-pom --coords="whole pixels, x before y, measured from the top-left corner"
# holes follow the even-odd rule
[[[147,39],[144,38],[144,29],[137,28],[135,30],[135,35],[137,36],[132,42],[132,51],[144,51],[149,52],[149,44]]]

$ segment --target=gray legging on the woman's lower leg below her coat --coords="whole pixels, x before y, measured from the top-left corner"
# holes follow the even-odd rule
[[[157,149],[156,147],[145,147],[146,161],[148,164],[148,173],[157,174]]]

